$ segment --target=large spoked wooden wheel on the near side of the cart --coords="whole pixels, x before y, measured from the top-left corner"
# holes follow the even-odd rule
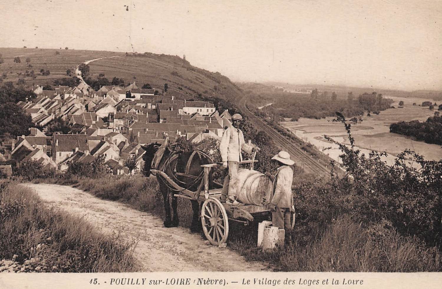
[[[220,201],[208,198],[202,204],[201,224],[204,235],[212,245],[225,243],[229,236],[229,219]]]

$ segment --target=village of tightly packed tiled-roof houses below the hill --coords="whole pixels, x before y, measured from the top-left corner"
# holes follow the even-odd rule
[[[134,158],[135,171],[144,166],[145,145],[160,142],[166,135],[186,137],[193,142],[211,137],[221,139],[231,116],[219,114],[212,103],[154,95],[135,83],[128,87],[103,86],[93,91],[77,87],[37,87],[37,97],[19,102],[31,115],[35,127],[30,135],[10,141],[4,160],[34,160],[44,168],[65,171],[72,162],[92,163],[103,156],[115,175],[129,173],[126,160]],[[56,118],[69,122],[68,134],[47,136],[48,125]]]

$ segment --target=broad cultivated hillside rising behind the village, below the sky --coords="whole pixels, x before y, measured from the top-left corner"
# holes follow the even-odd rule
[[[104,77],[110,81],[113,77],[118,77],[126,84],[135,81],[140,87],[149,83],[159,91],[162,91],[164,84],[167,83],[168,95],[182,96],[186,99],[220,98],[234,101],[242,95],[240,88],[226,76],[219,72],[209,72],[194,67],[178,56],[35,48],[0,48],[0,53],[4,59],[4,63],[0,64],[0,74],[6,73],[3,82],[12,81],[14,84],[20,78],[25,80],[27,86],[52,84],[55,79],[67,77],[67,69],[73,72],[75,67],[84,61],[121,56],[91,62],[89,76],[96,79],[100,73],[103,73]],[[21,62],[14,62],[14,57],[20,57]],[[26,62],[27,57],[30,58],[29,63]],[[29,64],[32,67],[28,67]],[[43,76],[40,69],[49,70],[50,75]],[[34,70],[34,78],[26,76],[26,71],[31,70]]]

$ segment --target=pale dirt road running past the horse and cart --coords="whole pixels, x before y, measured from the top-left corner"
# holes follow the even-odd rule
[[[134,256],[141,271],[259,271],[258,262],[246,262],[229,249],[206,245],[186,228],[164,228],[151,214],[120,202],[95,198],[70,186],[23,184],[36,191],[48,205],[82,217],[105,234],[118,234],[127,242],[138,242]]]

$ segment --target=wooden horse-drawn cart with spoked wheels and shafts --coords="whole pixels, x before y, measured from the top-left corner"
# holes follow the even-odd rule
[[[250,169],[253,169],[253,164],[255,162],[257,161],[244,160],[241,161],[240,164],[250,164]],[[220,166],[220,164],[204,164],[201,166],[204,168],[204,176],[196,192],[177,185],[163,171],[151,170],[152,174],[160,175],[170,186],[179,192],[178,194],[174,194],[175,197],[203,202],[200,215],[202,229],[207,240],[215,246],[218,246],[221,243],[226,243],[227,237],[229,236],[229,221],[240,222],[244,224],[244,226],[247,226],[250,222],[255,220],[257,215],[271,216],[270,210],[267,209],[267,205],[232,206],[226,203],[221,203],[220,198],[222,189],[209,190],[210,170],[218,166]],[[180,173],[177,174],[179,175]],[[292,214],[291,223],[293,229],[295,224],[295,214]]]

